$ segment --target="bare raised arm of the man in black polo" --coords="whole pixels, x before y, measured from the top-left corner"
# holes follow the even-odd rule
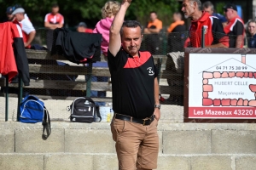
[[[123,3],[121,4],[121,7],[119,9],[119,12],[114,17],[112,26],[109,31],[108,50],[110,51],[111,54],[113,54],[113,56],[116,56],[116,54],[119,52],[119,49],[121,47],[120,30],[121,30],[121,27],[123,26],[126,10],[130,6],[131,1],[132,0],[123,0]]]

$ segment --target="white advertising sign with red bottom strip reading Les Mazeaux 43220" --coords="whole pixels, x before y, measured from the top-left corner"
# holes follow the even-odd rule
[[[189,54],[189,119],[256,120],[256,54]]]

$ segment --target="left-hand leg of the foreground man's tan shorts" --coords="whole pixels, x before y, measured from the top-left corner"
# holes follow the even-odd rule
[[[146,128],[142,124],[113,118],[111,132],[116,142],[119,170],[136,170],[138,148],[146,134]]]

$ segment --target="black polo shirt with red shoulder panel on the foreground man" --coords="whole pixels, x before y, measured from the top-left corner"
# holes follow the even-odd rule
[[[149,52],[139,51],[132,57],[120,48],[114,57],[108,51],[111,74],[113,111],[115,113],[146,118],[154,113],[154,78],[158,70]]]

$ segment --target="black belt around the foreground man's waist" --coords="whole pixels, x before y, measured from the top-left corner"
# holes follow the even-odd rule
[[[118,113],[115,113],[114,118],[116,119],[120,119],[123,121],[128,121],[128,122],[136,122],[136,123],[140,123],[143,124],[143,126],[148,126],[151,124],[151,122],[154,121],[154,115],[147,117],[145,119],[138,119],[138,118],[134,118],[132,116],[126,116],[126,115],[120,115]]]

